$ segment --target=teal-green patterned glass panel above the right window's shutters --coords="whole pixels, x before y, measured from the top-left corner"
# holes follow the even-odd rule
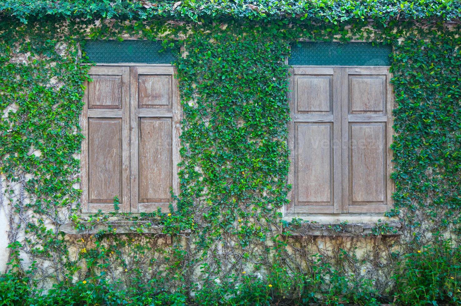
[[[291,46],[290,65],[390,66],[392,47],[371,42],[298,42]]]

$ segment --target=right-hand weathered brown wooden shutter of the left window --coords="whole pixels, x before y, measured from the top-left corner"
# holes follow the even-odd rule
[[[168,211],[179,193],[180,105],[173,67],[131,67],[131,212]]]

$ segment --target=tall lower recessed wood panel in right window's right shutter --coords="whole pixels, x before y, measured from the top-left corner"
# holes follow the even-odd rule
[[[350,127],[350,184],[352,203],[385,200],[385,126],[352,124]]]

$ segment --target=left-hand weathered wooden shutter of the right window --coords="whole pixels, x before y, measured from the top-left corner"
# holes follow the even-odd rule
[[[340,204],[341,137],[338,68],[295,68],[292,73],[289,212],[335,213]]]

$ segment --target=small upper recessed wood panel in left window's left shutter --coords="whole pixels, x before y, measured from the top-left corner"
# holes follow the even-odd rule
[[[121,109],[122,108],[122,77],[111,75],[92,76],[89,83],[88,108]]]

